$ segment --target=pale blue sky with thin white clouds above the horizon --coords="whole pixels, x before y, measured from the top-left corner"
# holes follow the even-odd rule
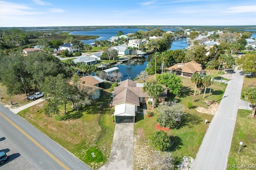
[[[256,25],[256,0],[0,0],[1,27]]]

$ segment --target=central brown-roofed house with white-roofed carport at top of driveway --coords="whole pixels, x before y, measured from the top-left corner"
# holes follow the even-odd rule
[[[143,83],[136,83],[130,79],[118,83],[118,87],[114,87],[114,98],[112,106],[114,106],[115,123],[134,123],[138,107],[142,103],[152,101],[147,92],[142,91]],[[158,101],[165,101],[167,97],[167,89],[158,97]]]

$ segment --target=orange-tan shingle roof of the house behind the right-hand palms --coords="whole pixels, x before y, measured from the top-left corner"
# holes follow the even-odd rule
[[[196,71],[202,71],[202,65],[196,61],[190,61],[188,63],[178,63],[172,67],[166,68],[171,71],[180,71],[184,73],[195,73]]]

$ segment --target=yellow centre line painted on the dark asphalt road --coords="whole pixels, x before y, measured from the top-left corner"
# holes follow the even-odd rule
[[[32,137],[30,137],[26,132],[24,132],[21,128],[19,128],[17,125],[15,125],[10,119],[8,119],[6,116],[4,116],[1,112],[0,115],[4,117],[8,122],[10,122],[14,127],[16,127],[20,132],[22,132],[25,136],[27,136],[32,142],[34,142],[39,148],[41,148],[46,154],[48,154],[50,157],[52,157],[58,164],[60,164],[64,169],[69,170],[69,168],[64,165],[60,160],[58,160],[55,156],[53,156],[48,150],[46,150],[43,146],[41,146],[36,140],[34,140]]]

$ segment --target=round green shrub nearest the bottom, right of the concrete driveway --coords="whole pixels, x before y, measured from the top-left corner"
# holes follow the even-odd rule
[[[149,144],[155,150],[166,151],[170,147],[170,138],[163,130],[156,131],[149,136]]]

